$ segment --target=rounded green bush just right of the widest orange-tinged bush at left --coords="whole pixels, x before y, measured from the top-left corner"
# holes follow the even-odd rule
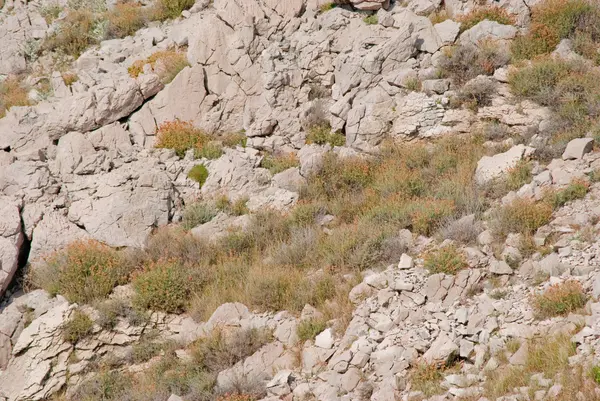
[[[134,275],[134,304],[145,309],[181,313],[189,300],[193,280],[178,262],[148,263]]]

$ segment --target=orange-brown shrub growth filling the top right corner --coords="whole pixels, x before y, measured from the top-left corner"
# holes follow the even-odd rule
[[[600,7],[587,0],[545,0],[531,10],[527,34],[518,37],[511,50],[519,60],[552,52],[562,39],[588,37],[600,41]]]

